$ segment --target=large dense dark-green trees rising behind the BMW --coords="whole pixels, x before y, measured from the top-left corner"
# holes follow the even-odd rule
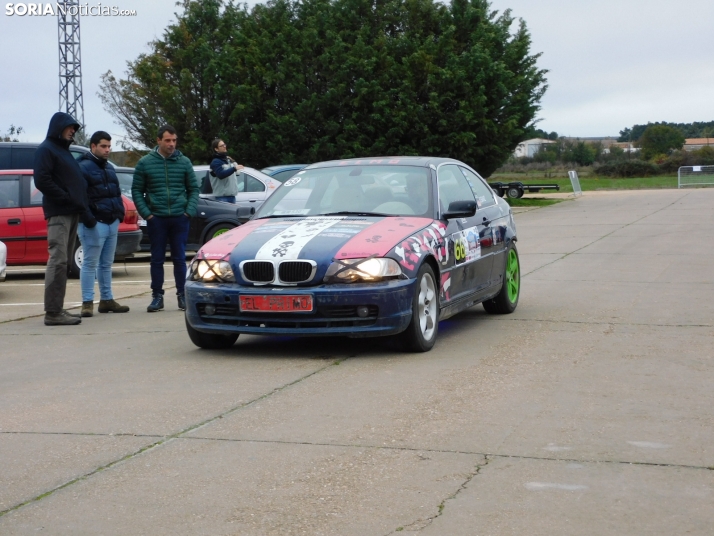
[[[522,21],[486,0],[184,0],[100,98],[135,143],[173,124],[254,166],[378,155],[459,158],[488,176],[532,128],[546,71]]]

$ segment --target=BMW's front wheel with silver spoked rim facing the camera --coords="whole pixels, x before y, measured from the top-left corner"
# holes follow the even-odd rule
[[[412,298],[412,320],[400,333],[402,345],[412,352],[428,352],[439,332],[439,287],[434,270],[424,263],[419,268]]]

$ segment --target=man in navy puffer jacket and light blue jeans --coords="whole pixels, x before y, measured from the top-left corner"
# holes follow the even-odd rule
[[[83,317],[94,314],[94,279],[99,281],[100,313],[126,313],[129,307],[119,305],[112,295],[112,263],[117,248],[119,222],[124,219],[124,202],[119,179],[109,164],[112,149],[111,136],[100,130],[89,140],[91,152],[79,160],[86,181],[89,209],[97,220],[94,227],[80,223],[77,228],[82,243],[83,260],[80,271]]]

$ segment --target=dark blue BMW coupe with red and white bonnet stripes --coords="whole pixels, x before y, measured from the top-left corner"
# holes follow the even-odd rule
[[[439,321],[478,303],[511,313],[520,293],[511,209],[448,158],[312,164],[254,218],[198,251],[186,328],[201,348],[241,333],[398,335],[430,350]]]

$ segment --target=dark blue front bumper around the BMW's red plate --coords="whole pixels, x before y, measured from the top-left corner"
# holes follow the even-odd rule
[[[186,319],[197,331],[219,335],[379,337],[407,328],[414,288],[414,279],[280,288],[187,281]],[[311,295],[314,307],[312,312],[243,312],[240,295]],[[214,314],[207,314],[209,304],[215,308]],[[360,306],[367,307],[366,316],[358,315]]]

